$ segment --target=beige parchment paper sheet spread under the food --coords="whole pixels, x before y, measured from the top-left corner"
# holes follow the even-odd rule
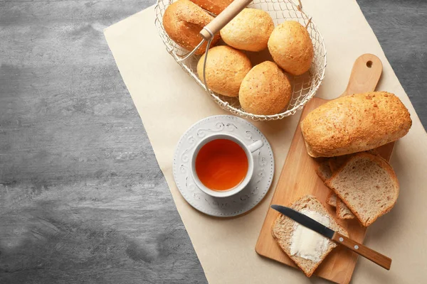
[[[399,200],[389,214],[369,227],[365,239],[367,246],[393,259],[391,271],[359,258],[352,283],[425,283],[427,134],[356,1],[304,0],[303,4],[327,47],[326,77],[317,96],[333,99],[341,94],[354,60],[363,53],[373,53],[384,65],[377,89],[399,96],[413,119],[411,131],[396,143],[391,158],[401,184]],[[179,194],[172,176],[173,153],[189,126],[206,116],[226,112],[167,53],[154,26],[153,7],[110,26],[105,37],[209,283],[326,283],[262,258],[254,249],[300,112],[281,121],[255,123],[270,141],[275,155],[275,179],[267,197],[244,216],[208,217]]]

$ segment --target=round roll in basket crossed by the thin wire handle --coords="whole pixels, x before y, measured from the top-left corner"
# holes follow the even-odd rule
[[[201,82],[205,55],[197,64],[197,73]],[[209,88],[228,97],[237,97],[243,78],[251,70],[249,58],[241,51],[221,45],[211,48],[206,61],[206,83]]]

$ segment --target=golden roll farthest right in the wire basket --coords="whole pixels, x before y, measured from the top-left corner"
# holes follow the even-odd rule
[[[285,21],[275,27],[268,40],[273,60],[292,75],[301,75],[310,69],[314,50],[307,29],[297,21]]]

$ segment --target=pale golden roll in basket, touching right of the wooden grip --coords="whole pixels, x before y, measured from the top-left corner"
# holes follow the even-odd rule
[[[220,31],[221,38],[233,48],[260,51],[267,48],[274,29],[270,15],[258,9],[243,9]]]

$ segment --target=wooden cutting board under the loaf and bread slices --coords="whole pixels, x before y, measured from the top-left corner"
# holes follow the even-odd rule
[[[349,84],[342,96],[374,91],[376,84],[379,82],[379,77],[381,77],[381,72],[382,63],[379,58],[371,54],[360,56],[357,58],[356,62],[354,62]],[[300,121],[304,119],[310,111],[326,102],[328,102],[326,99],[317,97],[311,99],[302,110]],[[393,147],[394,143],[389,143],[377,148],[377,150],[383,158],[389,160]],[[330,213],[335,216],[334,208],[330,207],[325,202],[330,189],[324,185],[319,177],[317,177],[315,173],[316,165],[315,159],[307,154],[304,141],[302,140],[300,124],[298,123],[290,145],[288,157],[285,160],[285,165],[283,166],[278,185],[275,188],[273,199],[270,204],[288,206],[303,195],[310,194],[315,195],[315,197],[325,204]],[[273,236],[271,236],[271,225],[276,217],[278,217],[278,212],[269,208],[255,246],[255,251],[261,256],[272,258],[288,266],[297,267],[286,253],[280,249],[280,246],[275,242]],[[338,222],[347,229],[350,238],[363,243],[367,229],[360,226],[357,219],[339,219]],[[349,283],[356,261],[356,253],[338,246],[317,268],[315,275],[335,283]],[[375,264],[372,263],[372,265]]]

